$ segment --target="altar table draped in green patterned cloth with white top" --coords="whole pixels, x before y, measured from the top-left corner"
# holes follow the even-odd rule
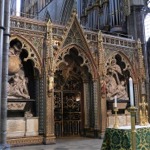
[[[101,150],[132,150],[131,127],[106,128]],[[150,125],[136,126],[136,150],[150,150]]]

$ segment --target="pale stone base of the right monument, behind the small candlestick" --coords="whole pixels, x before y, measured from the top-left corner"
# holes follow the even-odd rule
[[[107,116],[107,127],[113,127],[115,123],[115,115],[111,114]],[[119,126],[131,125],[130,114],[119,114],[118,115]]]

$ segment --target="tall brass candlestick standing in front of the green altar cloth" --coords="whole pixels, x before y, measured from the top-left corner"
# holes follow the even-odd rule
[[[135,129],[135,116],[137,108],[134,106],[131,106],[128,111],[131,115],[131,145],[132,150],[136,150],[136,129]]]

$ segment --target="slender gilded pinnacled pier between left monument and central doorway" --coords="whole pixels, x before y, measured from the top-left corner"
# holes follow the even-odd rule
[[[54,72],[53,72],[52,24],[47,23],[45,60],[45,131],[44,143],[55,143],[54,135]]]

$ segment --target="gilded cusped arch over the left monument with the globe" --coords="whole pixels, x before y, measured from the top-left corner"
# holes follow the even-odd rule
[[[13,40],[18,40],[21,42],[21,51],[24,49],[27,51],[28,56],[24,59],[24,61],[31,60],[33,62],[33,66],[38,70],[39,74],[42,72],[42,60],[40,54],[36,50],[36,48],[29,42],[26,38],[20,35],[12,35],[10,38],[10,42]]]

